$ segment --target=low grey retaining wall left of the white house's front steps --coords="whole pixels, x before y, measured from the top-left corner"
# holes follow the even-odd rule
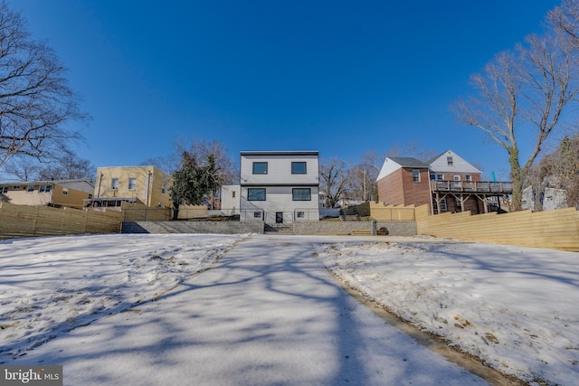
[[[263,233],[263,221],[125,221],[121,233]]]

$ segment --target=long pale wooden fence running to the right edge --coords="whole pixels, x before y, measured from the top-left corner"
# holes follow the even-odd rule
[[[432,215],[427,205],[416,208],[418,234],[463,241],[524,247],[579,250],[579,212],[575,208],[546,212]]]

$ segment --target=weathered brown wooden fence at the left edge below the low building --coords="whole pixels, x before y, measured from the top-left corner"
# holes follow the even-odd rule
[[[120,231],[121,212],[0,202],[0,239]]]

